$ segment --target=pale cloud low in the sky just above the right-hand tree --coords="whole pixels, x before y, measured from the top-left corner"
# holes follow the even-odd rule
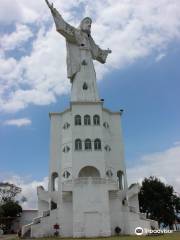
[[[141,182],[144,177],[156,176],[180,193],[180,146],[162,152],[144,155],[132,168],[127,169],[128,182]]]

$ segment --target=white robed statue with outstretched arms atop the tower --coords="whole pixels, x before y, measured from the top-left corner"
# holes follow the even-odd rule
[[[72,83],[71,101],[98,101],[93,59],[105,63],[111,50],[102,50],[95,44],[91,37],[92,20],[89,17],[75,28],[65,22],[53,4],[45,1],[51,10],[56,30],[66,39],[67,76]]]

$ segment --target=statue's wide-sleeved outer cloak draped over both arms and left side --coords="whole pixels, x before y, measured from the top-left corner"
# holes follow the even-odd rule
[[[56,24],[56,30],[66,39],[67,46],[67,76],[73,81],[77,72],[81,68],[81,48],[88,48],[91,52],[92,59],[101,63],[106,62],[107,51],[102,50],[95,44],[91,35],[87,35],[81,29],[77,29],[64,21],[56,9],[53,9],[52,15]]]

